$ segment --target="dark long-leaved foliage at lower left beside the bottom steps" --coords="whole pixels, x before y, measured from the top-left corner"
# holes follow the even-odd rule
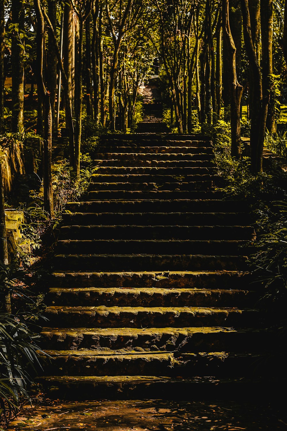
[[[13,311],[18,298],[25,304],[32,300],[22,283],[24,273],[17,265],[0,262],[0,419],[5,420],[7,411],[10,416],[16,412],[20,395],[29,399],[30,374],[40,366],[39,351],[43,353],[33,322],[39,316],[27,309]],[[6,310],[6,298],[11,300],[12,313]]]

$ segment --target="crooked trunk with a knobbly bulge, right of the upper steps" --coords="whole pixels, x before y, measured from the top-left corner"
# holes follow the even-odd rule
[[[229,1],[222,1],[222,28],[226,46],[226,68],[229,78],[230,92],[230,121],[231,121],[231,156],[241,157],[240,137],[240,102],[243,87],[236,76],[236,48],[229,26]]]

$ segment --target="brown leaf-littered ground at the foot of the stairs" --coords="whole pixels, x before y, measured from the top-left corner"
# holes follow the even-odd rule
[[[183,431],[286,430],[275,407],[237,402],[144,401],[52,401],[37,398],[24,406],[9,425],[12,430],[74,431]]]

